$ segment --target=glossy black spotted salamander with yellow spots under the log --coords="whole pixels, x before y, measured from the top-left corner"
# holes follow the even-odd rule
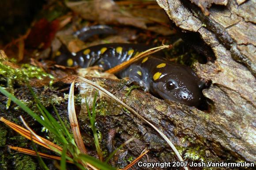
[[[77,53],[57,52],[56,63],[83,68],[98,65],[108,70],[147,49],[147,46],[138,44],[101,44]],[[117,76],[128,77],[130,82],[139,84],[155,96],[189,106],[199,106],[203,98],[203,82],[190,67],[155,56],[141,59],[121,70]]]

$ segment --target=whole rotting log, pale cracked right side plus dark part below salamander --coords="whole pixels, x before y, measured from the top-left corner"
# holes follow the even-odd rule
[[[131,95],[125,97],[127,87],[120,82],[102,78],[93,80],[100,82],[104,88],[113,92],[115,96],[161,129],[176,146],[190,149],[192,146],[200,146],[204,152],[203,158],[215,162],[216,160],[255,161],[256,10],[254,1],[243,1],[240,4],[238,0],[237,3],[230,0],[226,6],[211,7],[208,16],[189,1],[158,0],[158,4],[177,26],[177,30],[183,32],[184,41],[195,47],[198,47],[197,44],[203,44],[198,50],[203,49],[200,52],[207,55],[209,61],[206,64],[196,63],[195,68],[200,77],[212,82],[210,88],[203,91],[207,97],[208,110],[200,111],[195,107],[160,100],[142,90],[133,90]],[[192,42],[190,36],[198,37],[196,41],[201,40],[201,42]],[[27,89],[26,91],[24,88],[15,89],[15,91],[19,99],[31,100],[31,95],[17,93],[17,91],[28,93]],[[53,94],[61,96],[62,92],[49,91],[44,95],[47,98],[47,95]],[[38,95],[41,95],[40,91]],[[6,111],[6,100],[1,96],[1,116],[11,119],[25,115],[16,111],[14,107]],[[136,140],[117,153],[112,160],[113,164],[125,166],[129,157],[134,159],[145,148],[154,152],[148,154],[149,160],[146,156],[143,157],[143,162],[177,160],[173,154],[170,154],[172,151],[166,142],[147,124],[118,107],[118,104],[113,104],[113,101],[102,98],[98,102],[101,100],[106,102],[104,107],[109,112],[97,116],[97,128],[102,133],[103,150],[113,151],[130,137],[136,137]],[[60,115],[67,119],[65,104],[67,102],[57,108]],[[80,112],[79,125],[86,146],[91,148],[90,154],[93,155],[96,153],[92,140],[88,138],[91,137],[88,133],[90,127],[85,114]],[[32,119],[29,120],[27,117],[26,119],[30,125],[34,125]],[[184,140],[186,137],[192,140]],[[8,141],[6,144],[9,144]],[[10,151],[6,149],[4,152],[7,155]]]

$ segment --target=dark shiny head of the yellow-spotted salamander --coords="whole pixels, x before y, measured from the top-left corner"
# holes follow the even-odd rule
[[[203,99],[203,82],[189,67],[173,65],[156,70],[153,74],[153,93],[163,99],[174,100],[188,106],[199,106]]]

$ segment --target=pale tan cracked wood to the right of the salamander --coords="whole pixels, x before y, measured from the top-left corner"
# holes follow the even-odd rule
[[[192,1],[199,6],[203,3]],[[200,120],[189,108],[191,111],[180,119],[186,124],[177,129],[184,129],[195,137],[206,137],[213,146],[226,148],[236,157],[256,161],[255,1],[229,0],[223,6],[211,7],[207,13],[188,0],[157,2],[166,11],[173,26],[183,32],[184,41],[192,46],[203,44],[205,51],[210,49],[204,54],[212,54],[207,56],[212,59],[206,64],[195,64],[197,74],[212,82],[209,89],[203,90],[209,101],[209,111],[201,114],[208,118],[200,122],[202,129],[185,130],[184,127]],[[192,42],[188,34],[197,37],[196,40],[201,43]],[[177,120],[178,116],[173,116],[172,121]]]

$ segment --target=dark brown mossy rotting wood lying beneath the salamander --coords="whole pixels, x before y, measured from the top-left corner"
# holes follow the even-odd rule
[[[65,82],[67,80],[70,82],[72,79],[65,78]],[[123,81],[107,78],[92,78],[91,80],[113,93],[120,100],[134,108],[141,116],[157,126],[166,134],[179,151],[184,151],[184,155],[185,153],[189,154],[189,152],[192,152],[198,155],[200,159],[214,162],[227,160],[234,162],[244,159],[240,152],[230,149],[229,137],[238,138],[238,136],[235,136],[236,134],[233,131],[230,132],[230,129],[223,128],[221,124],[216,124],[215,115],[211,115],[211,111],[200,111],[196,107],[188,107],[177,102],[161,100],[152,96],[150,93],[143,92],[142,89],[134,89],[131,94],[127,95],[127,88],[129,87]],[[68,86],[69,84],[64,84],[63,81],[60,81],[53,85],[54,90],[40,88],[35,89],[35,91],[38,96],[43,95],[44,98],[47,98],[47,96],[49,98],[52,98],[52,96],[64,97],[63,92],[68,92]],[[77,92],[78,90],[76,90]],[[93,137],[90,133],[90,122],[87,112],[83,108],[83,99],[86,97],[83,95],[84,93],[81,94],[81,106],[76,105],[79,126],[89,154],[96,155],[92,140]],[[25,101],[31,100],[31,94],[26,88],[16,89],[15,96]],[[89,97],[87,94],[87,99]],[[3,96],[1,98],[1,108],[5,109],[4,106],[7,98]],[[96,127],[101,134],[101,148],[105,153],[112,152],[131,137],[136,138],[117,152],[111,160],[114,166],[126,166],[129,163],[128,160],[135,159],[145,148],[150,149],[151,152],[141,159],[143,162],[177,161],[176,156],[172,153],[173,151],[167,145],[166,141],[154,129],[137,118],[136,115],[129,113],[120,107],[118,103],[102,95],[98,96],[97,103]],[[47,108],[50,113],[55,115],[52,107]],[[67,120],[67,100],[62,100],[56,108],[61,117]],[[8,113],[11,112],[13,112],[12,115],[16,115],[15,119],[17,119],[18,115],[23,115],[30,125],[35,124],[32,118],[26,116],[26,113],[15,110],[13,103],[8,110]],[[14,118],[13,116],[10,117],[10,114],[5,115],[3,110],[1,111],[1,116],[9,120]],[[40,128],[38,133],[40,133]],[[45,135],[48,136],[48,134]],[[241,139],[241,144],[243,142],[244,140]],[[9,143],[9,140],[6,141],[6,144],[12,145]],[[5,154],[8,154],[10,151],[5,150],[5,152]],[[47,161],[47,163],[50,162]],[[134,167],[141,169],[137,165]]]

